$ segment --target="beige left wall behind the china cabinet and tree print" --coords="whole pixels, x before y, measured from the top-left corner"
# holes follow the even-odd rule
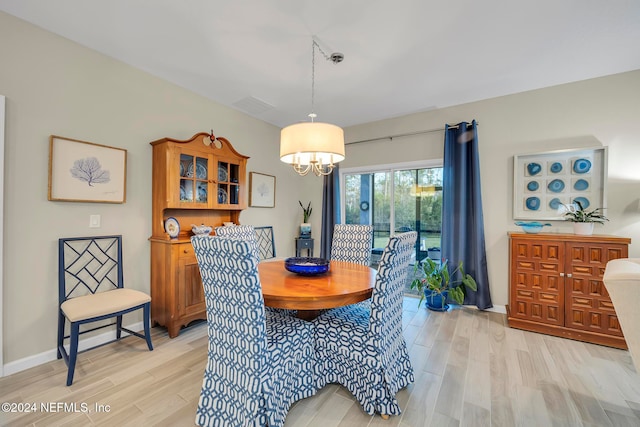
[[[249,208],[242,222],[273,224],[278,254],[293,254],[304,180],[280,162],[277,127],[2,12],[0,58],[0,94],[7,101],[4,363],[56,346],[60,237],[122,234],[126,285],[149,291],[149,141],[211,129],[228,138],[251,157],[248,171],[276,176],[276,208]],[[51,134],[127,149],[127,202],[47,201]],[[88,227],[91,214],[102,216],[102,228]]]

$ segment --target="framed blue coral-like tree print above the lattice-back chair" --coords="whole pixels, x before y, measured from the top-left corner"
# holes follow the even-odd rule
[[[124,203],[127,150],[49,137],[49,200]]]

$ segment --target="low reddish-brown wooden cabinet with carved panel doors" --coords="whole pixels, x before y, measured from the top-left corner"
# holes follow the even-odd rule
[[[628,256],[631,239],[509,233],[509,326],[626,349],[602,282],[607,262]]]

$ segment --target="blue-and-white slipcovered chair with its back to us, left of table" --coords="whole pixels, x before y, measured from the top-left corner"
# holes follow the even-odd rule
[[[207,307],[208,360],[199,426],[282,426],[317,391],[313,325],[269,313],[249,241],[192,237]]]

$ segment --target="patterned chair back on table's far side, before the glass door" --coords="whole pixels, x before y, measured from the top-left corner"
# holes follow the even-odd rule
[[[331,260],[362,265],[371,262],[373,227],[359,224],[336,224],[331,240]]]

